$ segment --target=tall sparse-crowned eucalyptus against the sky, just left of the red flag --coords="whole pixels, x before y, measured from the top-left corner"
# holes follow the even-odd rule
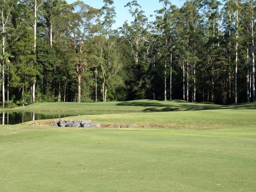
[[[144,99],[147,91],[147,70],[146,65],[146,47],[147,42],[147,23],[148,19],[144,11],[136,0],[133,0],[124,7],[127,7],[133,21],[130,24],[125,21],[121,32],[127,41],[130,53],[132,55],[132,71],[135,78],[132,83],[132,94],[136,99]]]

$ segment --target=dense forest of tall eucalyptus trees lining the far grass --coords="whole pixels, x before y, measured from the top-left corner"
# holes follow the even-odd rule
[[[255,0],[159,0],[149,22],[113,29],[115,7],[82,1],[0,0],[2,108],[34,102],[136,99],[255,101]]]

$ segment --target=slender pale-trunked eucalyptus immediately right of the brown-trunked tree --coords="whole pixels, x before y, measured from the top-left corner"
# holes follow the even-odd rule
[[[112,0],[104,0],[101,8],[103,20],[101,21],[101,37],[99,37],[100,48],[100,71],[99,77],[102,79],[101,93],[102,101],[107,99],[107,91],[114,91],[116,86],[122,85],[122,78],[119,71],[122,68],[122,53],[118,45],[117,30],[112,29],[116,17]]]

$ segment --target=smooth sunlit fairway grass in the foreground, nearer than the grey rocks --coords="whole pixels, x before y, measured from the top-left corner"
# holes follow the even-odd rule
[[[0,126],[1,191],[255,191],[256,130]]]

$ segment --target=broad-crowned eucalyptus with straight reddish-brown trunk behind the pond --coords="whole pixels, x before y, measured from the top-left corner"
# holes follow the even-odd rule
[[[68,44],[70,61],[75,64],[78,82],[77,101],[81,102],[81,79],[83,73],[95,66],[96,55],[90,53],[91,39],[99,28],[99,10],[92,8],[81,1],[71,4],[73,11],[66,15],[63,25],[66,25],[66,43]]]

